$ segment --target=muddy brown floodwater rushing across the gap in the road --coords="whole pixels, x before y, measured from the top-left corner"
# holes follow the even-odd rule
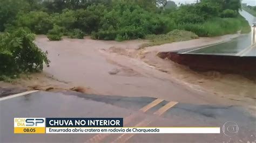
[[[193,104],[255,105],[255,81],[216,71],[197,73],[156,56],[159,51],[203,46],[237,35],[165,44],[139,49],[145,40],[124,42],[85,39],[49,41],[44,35],[36,44],[51,60],[43,74],[64,87],[82,86],[93,94],[147,96]],[[38,79],[37,79],[38,80]],[[63,85],[60,85],[63,87]]]

